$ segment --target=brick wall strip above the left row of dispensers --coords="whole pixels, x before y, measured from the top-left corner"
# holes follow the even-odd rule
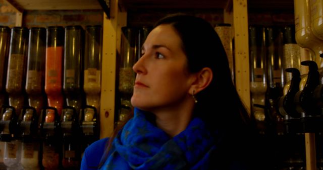
[[[15,10],[0,0],[0,25],[14,27]],[[47,27],[67,25],[102,25],[102,10],[55,10],[55,11],[25,11],[22,26]]]

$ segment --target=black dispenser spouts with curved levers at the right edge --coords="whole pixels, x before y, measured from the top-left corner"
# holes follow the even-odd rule
[[[316,62],[302,61],[308,66],[305,86],[300,82],[305,75],[296,68],[287,68],[292,73],[288,92],[277,100],[277,110],[283,116],[285,130],[289,133],[323,131],[323,71],[319,72]]]

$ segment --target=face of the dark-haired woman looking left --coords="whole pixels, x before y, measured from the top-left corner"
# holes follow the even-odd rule
[[[137,73],[131,98],[134,107],[153,112],[192,100],[188,94],[192,74],[181,39],[171,25],[159,25],[149,33],[133,70]]]

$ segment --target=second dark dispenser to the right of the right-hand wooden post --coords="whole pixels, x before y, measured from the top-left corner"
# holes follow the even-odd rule
[[[265,119],[268,132],[283,134],[283,119],[278,114],[276,105],[278,98],[283,94],[284,70],[283,58],[283,31],[279,27],[265,28],[267,91],[265,94]]]

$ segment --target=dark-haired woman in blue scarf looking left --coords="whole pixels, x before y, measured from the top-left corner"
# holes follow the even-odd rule
[[[250,169],[253,123],[208,22],[161,19],[133,70],[133,118],[108,147],[90,145],[81,169]]]

